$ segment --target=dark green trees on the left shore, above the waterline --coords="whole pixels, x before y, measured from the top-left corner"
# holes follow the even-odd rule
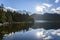
[[[26,13],[19,13],[17,11],[12,11],[10,9],[6,9],[4,11],[4,5],[1,4],[0,6],[0,23],[4,22],[33,22],[33,18],[29,15],[28,12]]]

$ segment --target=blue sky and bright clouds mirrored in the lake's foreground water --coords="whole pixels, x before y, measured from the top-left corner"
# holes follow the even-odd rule
[[[60,40],[60,29],[30,29],[29,31],[19,31],[5,34],[3,40]]]

